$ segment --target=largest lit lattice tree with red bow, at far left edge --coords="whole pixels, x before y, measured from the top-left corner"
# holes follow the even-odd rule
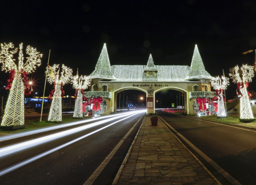
[[[13,55],[19,50],[18,65],[14,63]],[[34,72],[37,66],[41,65],[42,54],[36,48],[27,46],[26,62],[24,64],[23,43],[19,49],[14,48],[13,43],[1,44],[0,63],[2,71],[10,71],[10,79],[7,80],[6,89],[10,90],[5,113],[1,126],[24,125],[24,92],[29,91],[27,74]],[[26,93],[30,94],[30,93]]]

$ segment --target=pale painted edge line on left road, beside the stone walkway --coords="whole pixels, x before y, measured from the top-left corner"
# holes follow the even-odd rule
[[[120,142],[116,145],[116,147],[111,151],[110,154],[106,157],[106,159],[100,164],[100,166],[94,171],[94,173],[87,179],[87,181],[84,183],[84,185],[92,185],[99,176],[99,174],[102,172],[102,170],[106,167],[108,162],[112,159],[113,155],[117,152],[117,150],[120,148],[120,146],[125,142],[125,139],[127,136],[130,135],[131,131],[135,128],[137,123],[141,120],[142,117],[139,118],[139,120],[132,126],[132,128],[126,133],[126,135],[120,140]]]

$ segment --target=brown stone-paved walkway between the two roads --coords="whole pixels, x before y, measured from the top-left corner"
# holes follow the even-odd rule
[[[117,185],[216,185],[212,176],[158,119],[146,116]]]

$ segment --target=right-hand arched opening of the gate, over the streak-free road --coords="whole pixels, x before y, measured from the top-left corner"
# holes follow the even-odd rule
[[[158,106],[160,105],[160,102],[157,102],[158,100],[156,99],[156,97],[157,97],[156,94],[160,93],[160,92],[163,92],[163,91],[168,91],[168,90],[173,90],[173,91],[177,92],[177,93],[174,92],[172,94],[166,93],[166,96],[173,96],[173,97],[166,98],[168,100],[171,99],[169,107],[171,107],[171,103],[174,103],[175,107],[177,107],[177,105],[181,105],[182,103],[184,103],[184,109],[185,109],[185,111],[188,112],[189,111],[188,93],[184,89],[177,88],[177,87],[163,87],[161,89],[156,90],[156,92],[154,94],[155,107],[157,107],[157,104],[158,104]],[[183,94],[183,96],[182,96],[182,94]],[[178,96],[178,97],[176,97],[176,96]],[[178,98],[178,101],[175,101],[175,100],[177,100],[176,98]],[[184,101],[184,102],[182,102],[182,101]],[[161,108],[164,108],[164,107],[161,107]]]

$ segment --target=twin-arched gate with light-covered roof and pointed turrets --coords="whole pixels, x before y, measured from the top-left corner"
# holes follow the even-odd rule
[[[105,98],[107,110],[104,114],[116,112],[117,93],[137,89],[145,92],[147,99],[152,99],[153,107],[147,107],[147,113],[155,112],[155,93],[163,89],[172,89],[184,93],[185,111],[193,113],[192,104],[195,97],[189,97],[198,92],[200,97],[205,91],[211,91],[212,76],[205,70],[199,50],[195,45],[191,66],[154,64],[150,55],[147,65],[110,65],[106,44],[100,53],[95,70],[88,76],[91,81],[90,91]],[[102,88],[104,86],[104,88]],[[107,88],[106,88],[107,87]],[[104,91],[103,91],[104,90]],[[196,92],[194,92],[196,91]]]

